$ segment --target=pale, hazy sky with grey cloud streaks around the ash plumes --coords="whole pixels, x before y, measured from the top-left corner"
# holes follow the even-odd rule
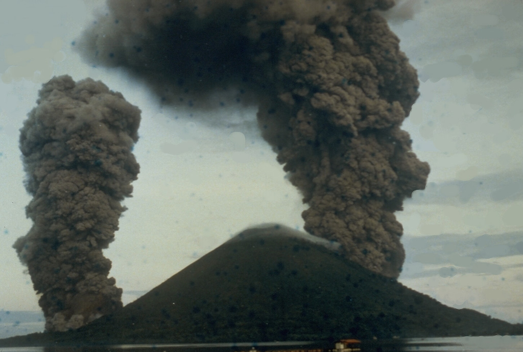
[[[0,4],[0,312],[38,311],[12,244],[31,227],[19,128],[54,75],[92,77],[142,110],[141,166],[120,230],[104,251],[128,303],[242,229],[302,229],[298,191],[261,138],[256,107],[165,107],[119,69],[93,67],[71,43],[103,1]],[[399,281],[456,308],[523,322],[523,4],[404,0],[384,14],[420,79],[403,129],[430,164],[425,191],[396,216]],[[209,114],[209,113],[208,113]],[[207,116],[206,116],[207,117]],[[43,323],[42,323],[43,328]]]

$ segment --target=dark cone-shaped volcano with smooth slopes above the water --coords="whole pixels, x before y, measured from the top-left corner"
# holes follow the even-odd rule
[[[292,237],[296,233],[246,230],[121,311],[53,339],[174,343],[521,333],[521,326],[444,306],[324,245]]]

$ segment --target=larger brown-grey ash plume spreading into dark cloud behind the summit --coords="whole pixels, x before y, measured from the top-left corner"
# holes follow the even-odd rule
[[[212,108],[223,89],[254,98],[264,138],[310,205],[305,230],[397,277],[405,255],[393,213],[425,187],[429,167],[400,129],[418,80],[377,11],[393,5],[109,0],[75,45],[89,62],[127,67],[167,102]]]

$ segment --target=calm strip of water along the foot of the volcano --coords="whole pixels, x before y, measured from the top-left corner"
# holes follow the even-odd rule
[[[309,342],[295,343],[224,343],[171,345],[116,345],[104,347],[4,347],[0,352],[231,352],[306,349]],[[316,348],[317,345],[314,345]],[[330,348],[334,346],[324,346]],[[401,340],[363,341],[361,352],[369,351],[523,351],[523,336],[415,338]]]

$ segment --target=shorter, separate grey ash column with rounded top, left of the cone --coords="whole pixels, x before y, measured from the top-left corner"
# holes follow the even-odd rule
[[[41,295],[47,331],[77,328],[122,306],[102,250],[139,165],[140,110],[100,81],[55,77],[20,129],[33,226],[14,244]]]

